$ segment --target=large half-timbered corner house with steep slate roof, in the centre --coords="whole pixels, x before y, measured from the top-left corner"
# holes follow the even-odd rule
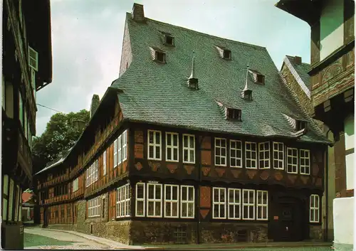
[[[323,237],[330,141],[266,48],[134,4],[120,78],[92,107],[68,155],[36,174],[44,226],[131,245]]]

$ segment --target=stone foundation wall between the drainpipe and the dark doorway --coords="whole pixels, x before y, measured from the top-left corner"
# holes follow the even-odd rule
[[[201,242],[267,242],[268,224],[201,223]]]

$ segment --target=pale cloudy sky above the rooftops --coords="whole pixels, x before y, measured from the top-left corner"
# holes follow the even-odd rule
[[[51,0],[53,81],[37,93],[36,136],[53,110],[89,110],[93,94],[101,99],[118,78],[125,14],[134,2],[148,18],[266,47],[278,69],[285,55],[310,63],[310,26],[277,1]]]

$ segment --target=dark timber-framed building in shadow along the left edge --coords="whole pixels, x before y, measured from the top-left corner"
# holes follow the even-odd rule
[[[1,247],[21,249],[21,194],[32,186],[36,92],[52,81],[49,0],[6,0],[2,20]]]

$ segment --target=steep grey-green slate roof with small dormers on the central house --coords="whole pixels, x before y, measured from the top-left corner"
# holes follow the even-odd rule
[[[295,105],[281,82],[278,69],[266,48],[231,41],[146,18],[145,23],[126,16],[130,33],[132,63],[112,82],[118,94],[123,117],[131,121],[184,127],[256,137],[294,137],[283,114],[308,120]],[[175,46],[164,46],[161,31],[174,36]],[[232,60],[219,57],[216,45],[231,50]],[[150,47],[164,50],[167,63],[156,63]],[[199,90],[189,90],[192,55]],[[246,66],[265,75],[265,85],[253,82],[248,74],[252,101],[241,98],[246,83]],[[224,119],[215,100],[241,109],[242,122]],[[330,141],[309,129],[300,141]]]

